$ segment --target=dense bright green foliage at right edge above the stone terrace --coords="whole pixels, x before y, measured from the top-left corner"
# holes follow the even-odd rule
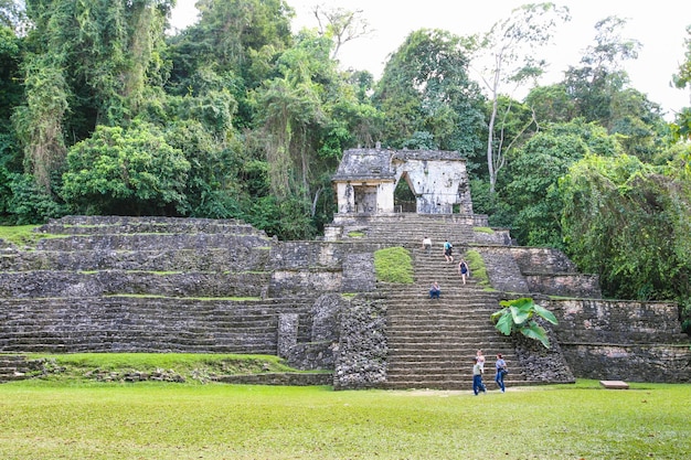
[[[656,168],[626,154],[588,156],[561,181],[571,256],[606,292],[690,307],[691,189],[679,169],[687,161]]]

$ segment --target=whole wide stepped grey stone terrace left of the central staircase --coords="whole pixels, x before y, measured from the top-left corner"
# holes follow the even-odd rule
[[[277,354],[313,298],[269,298],[270,239],[242,222],[70,216],[0,253],[0,353]]]

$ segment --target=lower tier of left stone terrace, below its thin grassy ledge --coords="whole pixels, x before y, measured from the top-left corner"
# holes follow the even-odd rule
[[[311,302],[159,297],[0,299],[0,352],[227,352],[276,354],[281,312],[308,342]]]

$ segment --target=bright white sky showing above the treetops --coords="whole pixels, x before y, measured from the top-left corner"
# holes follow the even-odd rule
[[[196,0],[178,0],[171,23],[182,29],[196,18]],[[457,35],[483,33],[510,17],[511,11],[536,0],[287,0],[296,10],[294,30],[316,28],[311,15],[315,4],[326,8],[362,10],[373,32],[349,42],[339,52],[343,68],[370,71],[381,76],[387,56],[405,38],[418,29],[444,29]],[[631,86],[660,104],[668,119],[682,107],[691,106],[691,90],[672,88],[672,74],[684,60],[685,28],[691,25],[689,0],[562,0],[572,20],[560,26],[554,44],[543,50],[550,72],[542,85],[563,79],[568,65],[577,66],[583,51],[594,44],[595,23],[609,15],[627,20],[624,39],[641,43],[638,58],[625,63]],[[541,53],[542,56],[542,53]]]

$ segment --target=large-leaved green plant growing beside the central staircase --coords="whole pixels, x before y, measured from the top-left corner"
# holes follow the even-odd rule
[[[499,332],[504,335],[520,332],[527,338],[540,341],[545,349],[550,347],[548,333],[544,328],[535,322],[535,317],[540,317],[552,324],[557,324],[559,321],[556,321],[554,313],[528,297],[501,300],[499,304],[503,308],[493,312],[490,317]]]

